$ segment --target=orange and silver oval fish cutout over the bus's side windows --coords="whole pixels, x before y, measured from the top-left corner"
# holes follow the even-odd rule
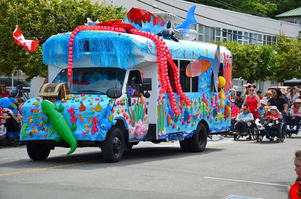
[[[186,75],[188,77],[196,77],[203,74],[203,72],[206,72],[209,68],[211,68],[211,62],[209,60],[195,60],[188,64]]]

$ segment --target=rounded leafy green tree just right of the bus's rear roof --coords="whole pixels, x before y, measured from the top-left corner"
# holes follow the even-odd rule
[[[236,41],[217,41],[233,55],[232,78],[243,78],[253,83],[266,81],[274,75],[278,64],[273,48],[269,45],[241,44]]]

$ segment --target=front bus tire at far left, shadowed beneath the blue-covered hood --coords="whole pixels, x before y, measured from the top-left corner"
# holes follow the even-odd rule
[[[45,160],[48,158],[50,148],[40,143],[27,143],[27,154],[32,160]]]

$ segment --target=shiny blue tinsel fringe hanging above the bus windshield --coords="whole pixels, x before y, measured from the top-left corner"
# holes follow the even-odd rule
[[[43,46],[43,62],[45,64],[67,64],[69,37],[71,33],[59,34],[49,38]],[[73,63],[85,61],[88,41],[90,63],[104,67],[118,66],[127,69],[135,66],[135,48],[145,48],[136,44],[131,37],[116,32],[85,31],[79,32],[73,42]]]

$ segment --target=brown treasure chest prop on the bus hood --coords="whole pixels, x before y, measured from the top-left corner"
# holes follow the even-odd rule
[[[68,94],[70,94],[70,88],[67,83],[47,83],[43,84],[38,96],[52,101],[64,99]]]

